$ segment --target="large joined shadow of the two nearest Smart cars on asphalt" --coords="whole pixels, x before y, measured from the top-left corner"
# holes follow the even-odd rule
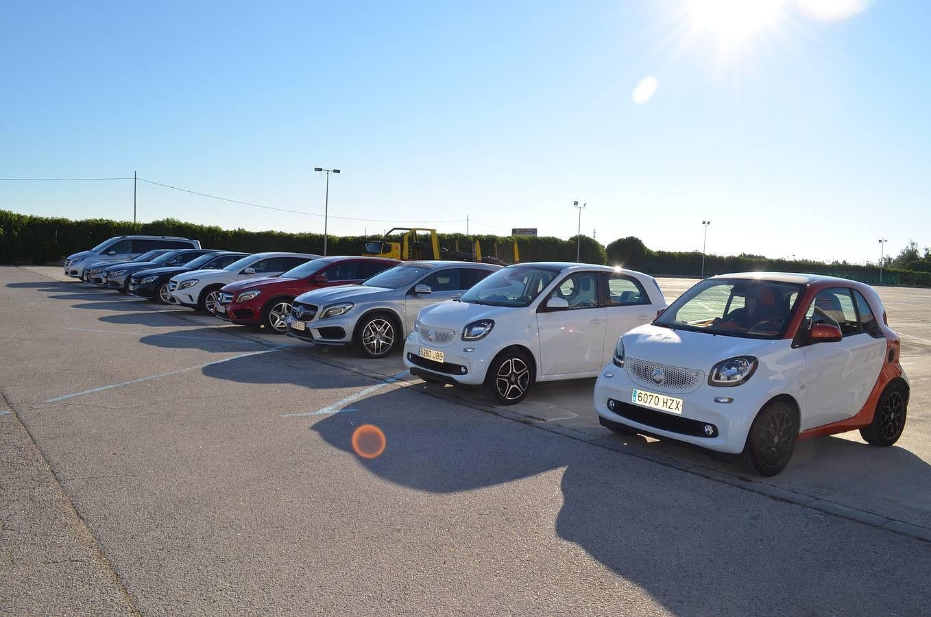
[[[885,532],[412,396],[396,389],[358,400],[351,411],[325,416],[309,429],[371,474],[412,490],[449,494],[516,482],[507,503],[487,493],[488,503],[474,516],[481,514],[488,526],[515,517],[532,526],[549,516],[546,496],[519,481],[563,469],[556,534],[672,612],[863,613],[884,606],[885,577],[928,589],[924,557],[922,567],[903,570],[872,551],[852,549],[863,534]],[[352,445],[353,433],[369,423],[385,434],[385,450],[374,459],[358,456]],[[882,541],[889,551],[914,550],[915,541],[902,536],[887,534]],[[545,580],[540,584],[546,588]],[[837,593],[841,589],[856,593]],[[906,613],[923,611],[924,598],[898,601],[909,605],[897,606]]]

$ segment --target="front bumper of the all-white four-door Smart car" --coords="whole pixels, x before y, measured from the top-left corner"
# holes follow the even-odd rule
[[[463,342],[456,338],[445,345],[421,341],[417,332],[411,332],[404,342],[404,366],[416,375],[420,371],[453,385],[479,386],[485,381],[488,372],[489,355],[481,348],[481,342]],[[443,361],[427,359],[420,355],[420,348],[425,347],[443,353]],[[472,351],[466,352],[466,349]],[[450,381],[452,380],[452,381]]]

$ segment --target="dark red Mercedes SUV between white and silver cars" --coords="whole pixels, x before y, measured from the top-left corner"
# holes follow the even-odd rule
[[[216,315],[284,334],[288,331],[285,316],[297,296],[311,289],[360,283],[398,263],[380,257],[321,257],[283,275],[236,281],[220,290]]]

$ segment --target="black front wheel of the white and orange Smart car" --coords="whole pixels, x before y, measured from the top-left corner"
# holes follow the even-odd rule
[[[750,424],[740,462],[754,474],[776,476],[789,464],[798,436],[795,409],[782,401],[770,403]]]

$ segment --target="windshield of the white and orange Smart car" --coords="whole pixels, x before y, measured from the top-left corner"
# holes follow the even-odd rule
[[[759,279],[707,279],[659,315],[654,325],[749,339],[785,333],[803,286]]]

